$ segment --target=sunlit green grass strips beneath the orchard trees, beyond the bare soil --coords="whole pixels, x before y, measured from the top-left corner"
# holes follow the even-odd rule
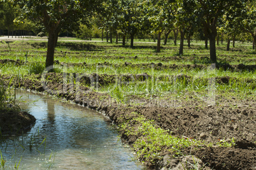
[[[68,38],[64,38],[68,39]],[[72,39],[71,39],[72,40]],[[100,86],[100,92],[107,92],[120,103],[125,103],[129,96],[136,95],[139,97],[150,98],[155,95],[158,97],[167,96],[186,96],[187,94],[206,93],[208,88],[208,80],[215,77],[229,76],[236,78],[227,84],[216,84],[217,94],[222,92],[234,92],[241,96],[246,97],[248,94],[255,94],[255,78],[256,72],[248,70],[224,70],[215,69],[210,73],[207,69],[210,66],[209,50],[204,49],[201,45],[203,41],[193,42],[192,49],[185,47],[185,56],[176,56],[178,46],[166,45],[163,46],[160,53],[155,53],[155,45],[147,43],[136,43],[134,48],[129,46],[116,45],[115,43],[101,43],[101,42],[65,42],[60,41],[55,51],[55,60],[59,62],[70,63],[83,63],[83,66],[65,66],[57,65],[61,73],[80,73],[80,74],[143,74],[149,75],[148,82],[132,81],[127,85],[117,84],[115,82],[108,85]],[[242,45],[236,43],[237,46]],[[245,44],[243,44],[245,45]],[[247,44],[248,45],[248,44]],[[82,50],[78,46],[85,46]],[[94,46],[92,49],[87,49],[86,46]],[[0,44],[2,49],[5,49],[6,43]],[[43,72],[46,55],[46,41],[14,41],[10,43],[10,52],[0,50],[1,59],[12,60],[26,60],[25,53],[28,52],[27,63],[20,66],[14,63],[0,64],[1,73],[15,74],[25,76],[27,74],[39,74]],[[76,49],[73,49],[76,48]],[[247,54],[251,52],[250,46],[239,46],[237,49],[242,49],[243,52],[225,51],[225,46],[217,47],[218,59],[222,63],[227,64],[255,64],[255,54]],[[137,56],[137,58],[135,58]],[[167,59],[165,59],[167,58]],[[125,62],[130,62],[132,65],[125,66]],[[150,66],[150,63],[162,63],[165,66],[177,66],[176,68],[162,68],[157,66]],[[105,64],[104,64],[105,63]],[[144,64],[144,65],[143,65]],[[148,64],[147,66],[145,64]],[[186,64],[203,64],[204,69],[186,67]],[[178,75],[190,76],[190,81],[174,81]],[[153,76],[153,80],[152,77]],[[170,76],[169,79],[161,78],[163,76]],[[247,82],[246,79],[252,80]]]

